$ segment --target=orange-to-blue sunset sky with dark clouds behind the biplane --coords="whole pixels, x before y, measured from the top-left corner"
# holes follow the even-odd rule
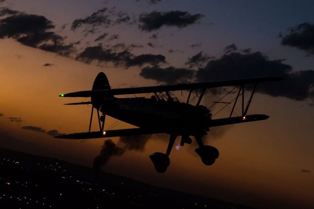
[[[269,119],[211,129],[205,142],[220,153],[212,166],[193,142],[173,149],[167,172],[157,173],[149,155],[165,152],[169,137],[158,134],[144,151],[111,157],[102,169],[252,207],[314,208],[314,1],[0,0],[0,7],[1,147],[92,167],[105,139],[53,135],[88,131],[91,106],[63,105],[84,98],[58,95],[90,90],[99,72],[112,88],[279,76],[284,81],[258,86],[248,111]],[[216,96],[208,93],[203,105]],[[105,129],[115,122],[106,118]]]

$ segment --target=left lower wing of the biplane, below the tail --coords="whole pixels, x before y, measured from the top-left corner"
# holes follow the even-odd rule
[[[116,137],[116,136],[131,136],[131,135],[153,134],[153,133],[163,133],[163,132],[164,131],[135,128],[135,129],[108,130],[108,131],[105,131],[105,134],[103,132],[101,132],[101,131],[70,133],[70,134],[63,134],[63,135],[54,136],[54,138],[62,138],[62,139],[95,139],[95,138],[107,138],[107,137]]]

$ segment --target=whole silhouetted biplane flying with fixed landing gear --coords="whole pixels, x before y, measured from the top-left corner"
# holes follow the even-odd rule
[[[191,136],[195,138],[198,148],[195,152],[201,157],[205,165],[211,165],[219,156],[215,147],[204,145],[202,137],[211,127],[224,126],[237,123],[265,120],[269,116],[264,114],[248,115],[248,109],[252,102],[256,86],[262,82],[278,81],[282,78],[245,78],[236,80],[212,81],[201,83],[181,83],[174,85],[160,85],[132,88],[115,88],[109,85],[104,73],[99,73],[95,78],[92,90],[78,91],[61,94],[60,97],[90,97],[90,102],[70,103],[92,104],[89,131],[55,136],[64,139],[92,139],[103,137],[129,136],[139,134],[167,133],[170,135],[168,147],[165,153],[153,153],[150,155],[155,169],[163,173],[170,165],[169,155],[178,136],[181,136],[180,145],[191,144]],[[248,102],[244,104],[245,85],[251,84],[252,91]],[[239,86],[230,116],[226,118],[212,119],[210,110],[201,105],[202,98],[209,88]],[[172,91],[189,91],[185,102],[180,102],[171,96]],[[190,104],[191,95],[196,93],[197,102]],[[197,93],[198,92],[198,93]],[[117,95],[135,95],[151,93],[151,97],[117,98]],[[240,99],[239,99],[240,98]],[[235,104],[242,100],[242,114],[233,116]],[[91,131],[94,109],[97,110],[100,131]],[[100,115],[101,112],[101,115]],[[105,130],[105,116],[124,121],[138,128],[122,130]]]

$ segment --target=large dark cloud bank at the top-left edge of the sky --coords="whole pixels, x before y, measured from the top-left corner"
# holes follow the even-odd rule
[[[44,16],[17,12],[0,19],[0,38],[13,38],[18,42],[61,55],[69,55],[72,45],[64,45],[64,38],[50,31],[54,28]]]

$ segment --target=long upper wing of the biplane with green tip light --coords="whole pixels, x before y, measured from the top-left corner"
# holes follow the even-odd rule
[[[222,87],[222,86],[247,84],[247,83],[262,83],[262,82],[270,82],[270,81],[278,81],[278,80],[282,80],[282,78],[277,78],[277,77],[246,78],[246,79],[222,80],[222,81],[212,81],[212,82],[203,82],[203,83],[181,83],[181,84],[175,84],[175,85],[78,91],[78,92],[72,92],[72,93],[67,93],[67,94],[61,94],[59,96],[60,97],[91,97],[91,96],[107,97],[107,96],[123,95],[123,94],[141,94],[141,93],[178,91],[178,90],[189,90],[189,89],[199,89],[199,88],[214,88],[214,87]]]

